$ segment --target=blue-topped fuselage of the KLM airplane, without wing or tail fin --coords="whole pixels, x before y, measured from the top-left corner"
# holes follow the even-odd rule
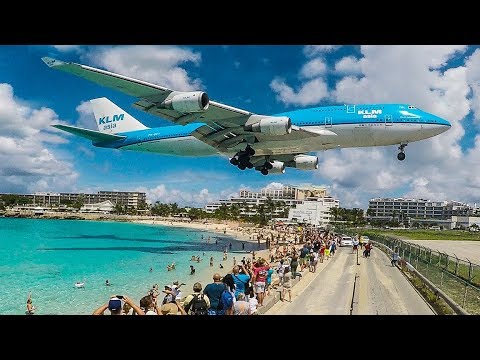
[[[328,130],[331,135],[305,138],[296,131],[282,136],[255,134],[256,155],[308,153],[332,148],[407,144],[443,133],[450,123],[406,104],[326,106],[295,110],[272,116],[288,116],[292,124],[309,132]],[[96,146],[155,152],[166,155],[206,156],[219,154],[214,147],[191,134],[204,123],[165,126],[127,133],[123,140]],[[335,135],[336,134],[336,135]],[[231,154],[244,143],[229,148]]]

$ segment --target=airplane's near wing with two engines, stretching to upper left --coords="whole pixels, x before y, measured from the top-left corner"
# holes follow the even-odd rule
[[[49,57],[43,57],[42,60],[52,69],[138,98],[133,106],[149,114],[179,125],[205,123],[206,125],[198,128],[192,135],[223,153],[228,153],[229,149],[242,142],[253,144],[278,135],[285,136],[285,140],[336,135],[329,130],[323,131],[330,134],[320,134],[292,126],[287,117],[258,115],[210,101],[208,95],[202,91],[179,92],[86,65]]]

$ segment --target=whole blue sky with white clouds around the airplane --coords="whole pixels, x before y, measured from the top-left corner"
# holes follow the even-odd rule
[[[88,100],[107,97],[149,127],[169,122],[135,98],[49,69],[51,56],[209,97],[255,113],[308,106],[411,103],[452,129],[410,144],[318,153],[319,169],[240,171],[220,157],[101,149],[52,128],[95,128]],[[473,46],[0,46],[0,192],[140,190],[151,201],[202,206],[240,188],[325,185],[345,207],[408,196],[480,204],[480,50]]]

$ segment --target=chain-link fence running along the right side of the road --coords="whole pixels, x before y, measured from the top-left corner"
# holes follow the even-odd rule
[[[402,259],[408,261],[468,313],[480,314],[480,265],[393,237],[369,233],[365,235],[397,250]]]

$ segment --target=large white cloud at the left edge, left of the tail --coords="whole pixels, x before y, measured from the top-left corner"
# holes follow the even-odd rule
[[[46,143],[64,142],[50,125],[61,123],[49,108],[32,108],[0,84],[0,188],[2,192],[62,189],[78,174],[69,162],[57,159]]]

